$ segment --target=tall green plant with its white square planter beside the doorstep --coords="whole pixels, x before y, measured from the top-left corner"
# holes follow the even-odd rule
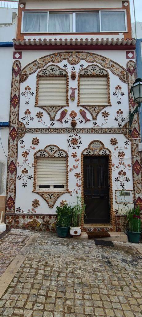
[[[77,202],[73,205],[70,221],[70,236],[81,235],[81,218],[82,214],[85,213],[86,205],[82,203],[80,197],[77,196]]]

